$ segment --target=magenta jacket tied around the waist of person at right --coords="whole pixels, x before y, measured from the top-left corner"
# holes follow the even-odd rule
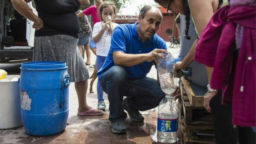
[[[211,87],[222,89],[222,104],[232,103],[232,122],[239,126],[256,126],[255,15],[255,5],[217,10],[200,36],[194,57],[214,67]],[[239,54],[233,45],[237,24],[243,26]]]

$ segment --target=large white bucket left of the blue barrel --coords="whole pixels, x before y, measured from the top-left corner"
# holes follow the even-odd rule
[[[19,75],[7,75],[11,81]],[[20,88],[18,81],[0,82],[0,129],[23,126],[20,115]]]

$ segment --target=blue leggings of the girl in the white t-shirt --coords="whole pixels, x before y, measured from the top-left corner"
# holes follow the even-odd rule
[[[103,66],[103,63],[105,62],[107,57],[105,56],[97,56],[96,58],[96,68],[97,68],[97,72],[100,70],[100,68]],[[104,102],[104,96],[103,96],[104,92],[100,86],[100,81],[98,79],[97,81],[97,95],[98,95],[98,102]]]

